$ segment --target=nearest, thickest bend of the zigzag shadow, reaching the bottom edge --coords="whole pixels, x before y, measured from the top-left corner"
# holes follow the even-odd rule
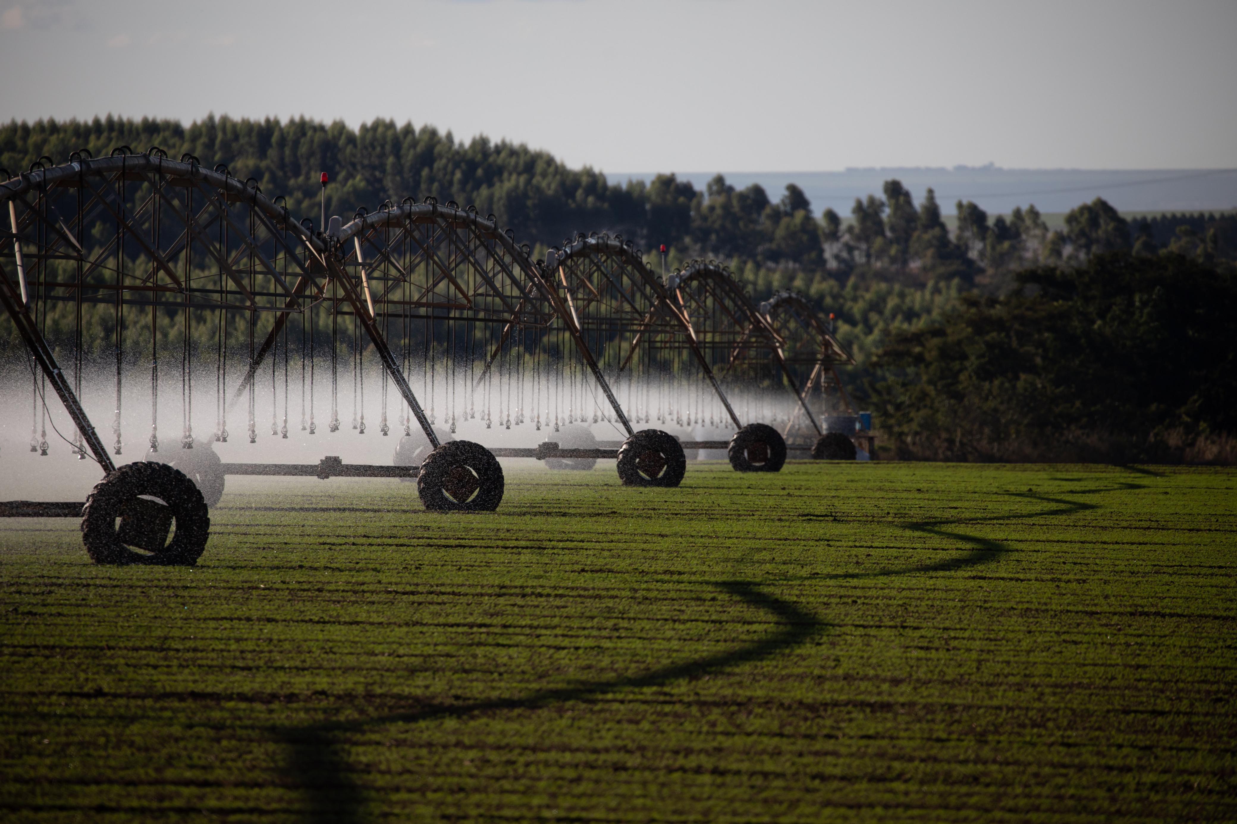
[[[282,730],[280,738],[289,747],[289,778],[304,794],[307,820],[314,824],[351,824],[365,813],[365,798],[349,776],[348,759],[341,751],[341,734],[359,733],[383,724],[428,721],[435,718],[464,718],[477,713],[507,709],[537,709],[550,704],[595,698],[618,689],[661,687],[683,678],[715,672],[741,663],[752,663],[803,644],[823,631],[825,624],[810,612],[788,600],[761,592],[750,581],[725,581],[722,591],[758,607],[778,620],[779,629],[752,644],[730,652],[673,663],[643,675],[542,689],[522,698],[494,698],[470,704],[419,707],[414,710],[388,713],[377,718],[353,721],[325,721],[312,726]]]

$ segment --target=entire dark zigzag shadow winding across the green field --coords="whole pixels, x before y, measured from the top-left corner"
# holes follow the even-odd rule
[[[1139,484],[1118,483],[1117,486],[1118,488],[1139,488]],[[1098,492],[1115,492],[1115,489],[1081,489],[1075,490],[1074,494]],[[1065,498],[1051,498],[1034,493],[1007,494],[1016,498],[1027,498],[1030,500],[1051,503],[1056,504],[1056,507],[1033,513],[893,524],[893,526],[901,526],[902,529],[922,532],[924,535],[956,540],[971,545],[974,549],[961,557],[946,558],[935,563],[914,565],[876,572],[777,577],[764,583],[784,583],[809,579],[819,582],[842,578],[876,578],[924,572],[952,572],[976,567],[991,563],[999,556],[1007,552],[1013,552],[1014,550],[1002,541],[946,530],[943,528],[954,524],[983,524],[1022,520],[1028,518],[1070,515],[1098,508],[1097,504],[1069,500]],[[814,615],[811,612],[788,600],[762,592],[760,589],[760,584],[756,582],[724,581],[717,582],[714,586],[736,595],[748,605],[758,607],[766,610],[772,618],[778,620],[781,624],[779,629],[758,641],[731,652],[694,658],[683,663],[668,665],[643,675],[584,683],[574,687],[543,689],[522,698],[495,698],[469,704],[428,705],[408,712],[388,713],[386,715],[362,720],[324,721],[322,724],[281,730],[278,733],[280,739],[289,749],[287,765],[288,777],[293,786],[299,787],[303,793],[307,808],[306,820],[313,824],[354,824],[355,822],[361,822],[366,818],[365,793],[350,777],[348,757],[343,751],[343,742],[340,741],[340,739],[349,733],[359,733],[367,728],[392,723],[428,721],[435,718],[464,718],[479,713],[507,709],[537,709],[560,702],[581,700],[604,696],[618,689],[661,687],[683,678],[690,678],[693,676],[700,676],[742,663],[762,661],[778,652],[805,642],[808,639],[824,631],[828,626],[825,621]]]

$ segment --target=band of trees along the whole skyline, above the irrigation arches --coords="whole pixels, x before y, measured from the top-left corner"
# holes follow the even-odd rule
[[[849,219],[833,209],[814,216],[803,190],[788,184],[773,200],[758,184],[736,189],[722,175],[703,191],[674,174],[649,182],[610,183],[589,167],[569,168],[547,152],[484,136],[464,142],[433,126],[375,120],[350,128],[306,117],[287,121],[209,116],[188,126],[174,120],[95,117],[89,121],[11,121],[0,126],[0,167],[25,170],[40,157],[64,162],[85,148],[95,157],[114,147],[169,157],[193,154],[204,166],[226,164],[255,178],[267,195],[282,194],[301,216],[319,211],[319,174],[327,172],[328,214],[350,217],[402,198],[473,204],[494,214],[534,246],[578,231],[610,231],[646,250],[672,247],[675,259],[715,257],[736,268],[757,267],[851,274],[903,282],[961,278],[974,283],[1042,263],[1084,261],[1105,251],[1148,254],[1162,248],[1194,257],[1237,257],[1233,215],[1160,216],[1127,221],[1102,199],[1082,204],[1049,230],[1034,205],[991,217],[971,201],[954,206],[955,229],[935,193],[917,205],[901,182],[881,195],[856,199]]]

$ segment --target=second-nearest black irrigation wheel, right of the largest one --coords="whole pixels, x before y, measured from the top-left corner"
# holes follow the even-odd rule
[[[442,513],[494,511],[502,502],[502,467],[473,441],[443,444],[426,456],[417,494],[426,509]]]

